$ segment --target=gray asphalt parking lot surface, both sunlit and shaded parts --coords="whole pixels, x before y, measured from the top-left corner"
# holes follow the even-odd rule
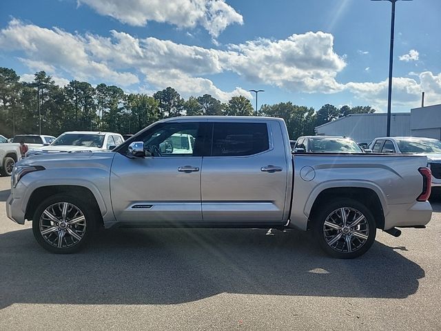
[[[378,231],[360,259],[298,231],[107,230],[79,254],[6,217],[0,330],[441,330],[441,203],[427,229]]]

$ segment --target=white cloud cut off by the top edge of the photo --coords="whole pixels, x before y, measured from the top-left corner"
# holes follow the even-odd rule
[[[171,23],[178,28],[200,25],[214,38],[230,24],[243,24],[242,15],[224,0],[77,0],[77,3],[131,26],[145,26],[147,21]]]

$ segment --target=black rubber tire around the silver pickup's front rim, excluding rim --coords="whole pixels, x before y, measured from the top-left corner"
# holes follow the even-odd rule
[[[41,214],[43,214],[43,211],[45,208],[48,208],[48,206],[57,203],[57,202],[68,202],[75,205],[77,208],[83,212],[86,222],[86,230],[83,239],[76,245],[68,248],[58,248],[43,238],[41,232],[40,232],[40,217]],[[37,242],[43,247],[45,250],[48,250],[49,252],[56,253],[56,254],[70,254],[74,252],[79,252],[79,250],[83,249],[85,245],[88,244],[90,241],[90,238],[93,236],[94,232],[96,231],[96,223],[97,223],[97,211],[94,210],[93,205],[88,203],[88,201],[84,201],[83,199],[80,199],[78,197],[72,197],[68,194],[55,194],[52,197],[49,197],[48,199],[45,199],[43,202],[39,204],[37,209],[34,212],[34,217],[32,219],[32,232],[34,233],[34,237],[37,240]]]

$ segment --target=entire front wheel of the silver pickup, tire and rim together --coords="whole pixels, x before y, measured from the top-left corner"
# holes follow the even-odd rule
[[[64,210],[66,216],[63,219]],[[45,250],[70,254],[79,252],[88,244],[98,220],[99,210],[88,201],[68,194],[54,194],[35,210],[32,232]]]

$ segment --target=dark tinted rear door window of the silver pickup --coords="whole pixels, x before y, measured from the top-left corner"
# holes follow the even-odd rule
[[[268,149],[266,123],[214,123],[213,157],[252,155]]]

